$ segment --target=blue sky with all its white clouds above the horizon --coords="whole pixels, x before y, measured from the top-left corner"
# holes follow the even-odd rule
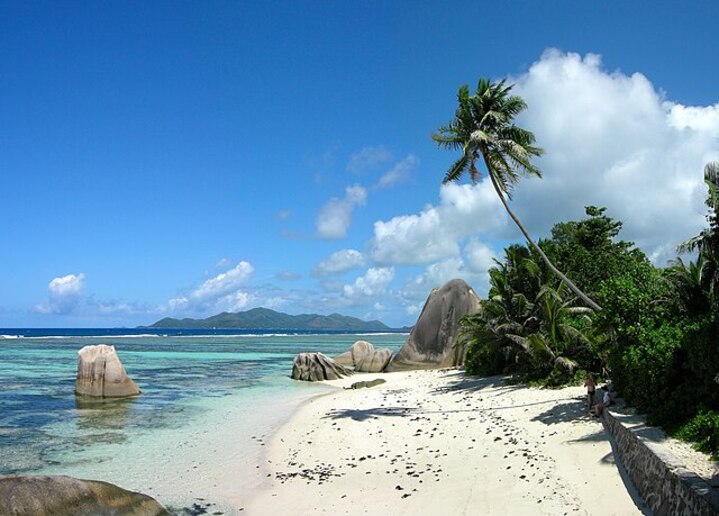
[[[546,150],[532,232],[605,205],[665,264],[719,159],[719,7],[589,4],[0,3],[0,327],[484,296],[519,234],[429,137],[480,76]]]

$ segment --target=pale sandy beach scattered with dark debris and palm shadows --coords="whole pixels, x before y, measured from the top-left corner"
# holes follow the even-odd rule
[[[243,514],[640,514],[584,389],[456,370],[354,376],[270,440]]]

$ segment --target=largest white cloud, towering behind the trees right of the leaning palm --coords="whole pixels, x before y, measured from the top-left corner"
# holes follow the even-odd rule
[[[642,74],[608,72],[601,58],[545,52],[514,79],[528,104],[521,124],[546,154],[513,206],[533,233],[607,206],[659,265],[705,224],[704,164],[719,158],[719,104],[684,106]]]

